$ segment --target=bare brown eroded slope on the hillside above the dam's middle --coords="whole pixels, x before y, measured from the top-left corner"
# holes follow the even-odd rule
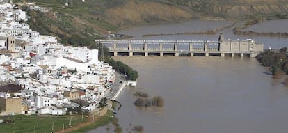
[[[105,12],[112,24],[141,24],[152,22],[171,22],[189,19],[193,16],[177,6],[155,2],[130,1],[123,6],[110,8]]]

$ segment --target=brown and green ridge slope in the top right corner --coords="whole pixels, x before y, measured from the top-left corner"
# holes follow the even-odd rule
[[[214,17],[247,18],[255,16],[287,15],[286,0],[167,0]]]

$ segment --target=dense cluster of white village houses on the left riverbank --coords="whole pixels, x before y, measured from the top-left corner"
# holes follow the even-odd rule
[[[29,17],[11,3],[0,4],[0,12],[1,114],[92,111],[110,93],[115,70],[98,61],[97,49],[64,46],[32,31]]]

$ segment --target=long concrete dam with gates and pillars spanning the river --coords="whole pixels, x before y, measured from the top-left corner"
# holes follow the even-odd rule
[[[96,45],[108,47],[111,56],[248,56],[264,51],[262,43],[254,40],[95,40]]]

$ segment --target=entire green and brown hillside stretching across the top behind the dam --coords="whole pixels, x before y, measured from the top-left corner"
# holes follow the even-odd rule
[[[49,8],[29,11],[31,27],[72,45],[93,44],[95,38],[142,24],[182,22],[187,19],[287,18],[285,0],[27,0]],[[13,0],[19,5],[26,1]]]

